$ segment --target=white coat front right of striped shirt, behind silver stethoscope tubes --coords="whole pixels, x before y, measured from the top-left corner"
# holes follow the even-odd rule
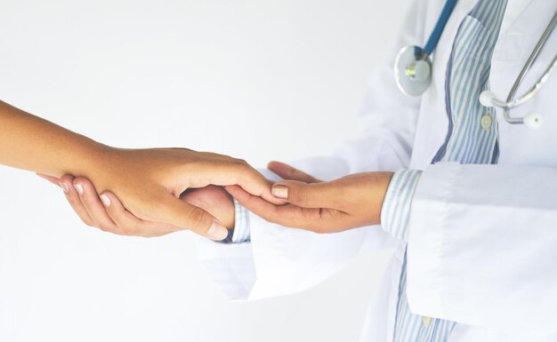
[[[513,0],[510,0],[513,1]],[[555,0],[513,1],[513,6],[507,17],[505,14],[506,28],[499,35],[496,49],[491,60],[489,85],[499,99],[506,99],[516,77],[520,74],[524,63],[537,44],[539,37],[544,32],[547,24],[557,10]],[[557,46],[557,35],[553,32],[545,48],[542,49],[537,60],[526,74],[517,95],[521,95],[537,78],[542,75],[545,68],[553,60],[554,49]],[[554,119],[554,104],[557,99],[552,96],[555,89],[553,77],[548,84],[521,107],[513,109],[513,116],[523,116],[531,112],[542,113],[545,116],[544,125],[538,130],[530,130],[523,125],[514,125],[505,122],[503,111],[496,108],[499,132],[499,161],[498,163],[529,163],[554,165],[557,160],[551,148],[554,147],[557,137],[554,134],[557,119]],[[553,87],[553,88],[552,88]],[[541,142],[544,142],[542,145]]]

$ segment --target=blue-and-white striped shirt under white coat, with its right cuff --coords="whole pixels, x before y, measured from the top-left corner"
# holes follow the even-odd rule
[[[448,62],[445,84],[448,134],[432,163],[496,163],[496,118],[491,108],[480,105],[480,93],[488,89],[490,60],[507,0],[480,0],[460,24]],[[383,229],[407,240],[412,197],[421,171],[395,172],[385,195]],[[406,296],[404,258],[394,330],[395,342],[443,342],[456,322],[412,314]]]

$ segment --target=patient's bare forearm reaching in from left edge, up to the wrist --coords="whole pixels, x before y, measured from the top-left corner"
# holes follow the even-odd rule
[[[87,175],[109,147],[0,101],[0,163],[60,177]]]

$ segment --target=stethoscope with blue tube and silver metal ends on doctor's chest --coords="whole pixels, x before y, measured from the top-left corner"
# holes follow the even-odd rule
[[[419,96],[427,90],[432,84],[432,59],[431,55],[437,43],[439,42],[441,33],[447,25],[448,17],[455,8],[457,0],[447,0],[443,6],[440,17],[433,28],[432,35],[427,40],[424,48],[419,46],[405,46],[400,50],[399,55],[395,61],[394,76],[399,86],[400,91],[409,96]],[[545,46],[547,39],[553,32],[553,28],[557,24],[557,11],[553,14],[553,19],[545,28],[544,34],[540,37],[536,47],[529,56],[529,59],[524,64],[521,73],[516,78],[513,88],[509,92],[506,101],[497,99],[496,95],[491,91],[483,91],[480,94],[480,103],[485,107],[500,107],[504,111],[505,121],[507,123],[521,124],[524,123],[529,127],[537,128],[542,124],[542,116],[537,113],[529,113],[522,117],[511,116],[511,109],[521,106],[524,102],[531,99],[537,91],[547,81],[553,69],[557,66],[557,54],[553,57],[552,62],[545,69],[544,74],[539,77],[536,84],[534,84],[529,91],[526,91],[518,99],[515,99],[516,92],[520,88],[524,77],[529,72],[529,69],[536,61],[542,48]]]

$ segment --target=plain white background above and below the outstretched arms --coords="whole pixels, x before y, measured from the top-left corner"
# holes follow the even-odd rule
[[[117,147],[323,155],[358,130],[406,3],[0,0],[0,99]],[[227,303],[189,233],[85,227],[29,172],[0,168],[0,189],[0,342],[356,341],[385,259]]]

